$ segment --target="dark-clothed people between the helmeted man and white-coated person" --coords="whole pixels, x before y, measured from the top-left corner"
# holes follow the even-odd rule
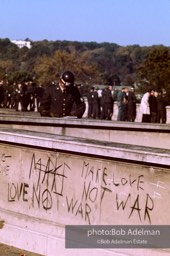
[[[88,118],[112,120],[114,101],[117,101],[117,121],[135,121],[137,99],[133,87],[130,90],[122,88],[118,92],[114,92],[112,86],[103,90],[91,87],[87,100]]]

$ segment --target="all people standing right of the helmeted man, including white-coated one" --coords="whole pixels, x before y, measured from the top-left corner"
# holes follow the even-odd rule
[[[112,86],[103,90],[91,87],[87,96],[88,118],[112,120],[114,101],[117,102],[117,121],[134,122],[137,114],[135,88],[120,87],[114,91]],[[166,123],[166,104],[162,91],[146,92],[140,103],[142,122]]]

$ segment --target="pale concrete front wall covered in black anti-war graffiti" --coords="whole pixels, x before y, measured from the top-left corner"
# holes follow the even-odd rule
[[[0,241],[42,255],[169,255],[65,249],[67,224],[170,225],[169,150],[0,131]]]

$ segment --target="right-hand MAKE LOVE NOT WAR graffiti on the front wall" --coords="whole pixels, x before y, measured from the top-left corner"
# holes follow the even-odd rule
[[[90,205],[97,201],[100,206],[102,204],[104,205],[104,199],[107,194],[109,194],[111,208],[115,209],[115,211],[128,213],[128,218],[137,215],[140,221],[148,221],[151,223],[151,212],[154,209],[154,201],[149,193],[144,191],[145,178],[143,174],[136,175],[136,177],[132,177],[131,174],[128,174],[125,177],[120,176],[119,179],[116,180],[114,171],[111,172],[106,167],[96,169],[95,166],[90,165],[88,162],[83,162],[81,178],[84,180],[81,199],[82,202],[86,202],[88,212],[85,212],[85,217],[87,217],[85,220],[88,220],[89,223],[89,213],[91,212]],[[128,188],[129,192],[127,194],[123,193],[124,198],[122,199],[121,191],[124,191],[125,187]],[[88,204],[88,202],[90,202],[90,204]],[[73,206],[75,207],[75,203],[73,199],[71,203],[72,209],[74,209]],[[79,206],[79,208],[78,211],[83,215],[82,207]]]

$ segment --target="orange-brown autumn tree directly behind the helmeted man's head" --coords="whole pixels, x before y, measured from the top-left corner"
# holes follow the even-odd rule
[[[41,84],[58,80],[60,74],[65,70],[72,71],[77,81],[84,82],[88,79],[93,80],[97,73],[97,66],[90,63],[90,56],[87,53],[80,55],[75,51],[69,53],[58,50],[51,57],[38,58],[34,67],[37,81]]]

